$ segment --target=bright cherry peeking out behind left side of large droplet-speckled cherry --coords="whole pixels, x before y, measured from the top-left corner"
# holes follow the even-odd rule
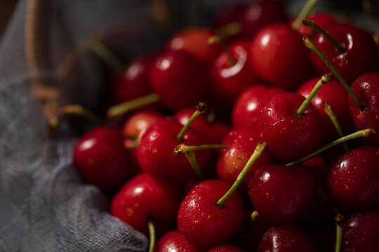
[[[234,127],[257,125],[260,109],[267,99],[275,94],[285,92],[277,87],[268,87],[258,84],[248,87],[241,92],[237,101],[234,103],[232,111],[232,123]]]

